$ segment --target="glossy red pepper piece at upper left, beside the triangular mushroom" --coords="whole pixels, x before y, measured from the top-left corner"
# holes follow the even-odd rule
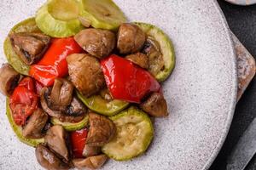
[[[56,77],[67,76],[67,56],[82,51],[73,37],[53,39],[44,57],[38,64],[31,66],[29,75],[44,86],[51,86]]]

